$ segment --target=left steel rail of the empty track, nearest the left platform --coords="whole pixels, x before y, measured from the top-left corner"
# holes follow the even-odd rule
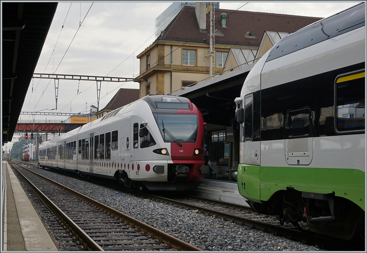
[[[12,165],[11,165],[12,166]],[[43,192],[41,192],[40,189],[38,189],[31,181],[28,180],[18,169],[16,169],[14,166],[12,166],[18,174],[23,178],[23,180],[32,188],[39,196],[41,196],[42,199],[44,199],[47,204],[51,206],[52,209],[54,209],[63,220],[65,220],[66,223],[79,235],[80,238],[83,239],[83,241],[94,251],[105,251],[95,242],[92,238],[90,238],[89,235],[87,235],[73,220],[71,220],[63,211],[61,211],[60,208],[57,207],[46,195],[44,195]],[[25,169],[25,168],[23,168]],[[25,169],[28,170],[28,169]],[[31,170],[28,170],[31,171]],[[33,172],[33,171],[31,171]],[[37,173],[35,173],[37,174]],[[37,174],[38,175],[38,174]]]

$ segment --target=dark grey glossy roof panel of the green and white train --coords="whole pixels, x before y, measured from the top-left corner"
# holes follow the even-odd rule
[[[287,35],[275,44],[266,62],[363,27],[365,26],[365,15],[366,3],[360,3],[310,24],[295,33]]]

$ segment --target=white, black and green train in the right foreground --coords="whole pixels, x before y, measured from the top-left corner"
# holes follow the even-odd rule
[[[360,3],[284,37],[248,74],[237,184],[255,212],[364,238],[365,15]]]

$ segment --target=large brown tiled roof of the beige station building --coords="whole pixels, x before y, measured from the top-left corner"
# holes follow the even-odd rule
[[[225,12],[226,27],[221,25],[221,13]],[[209,42],[210,13],[207,14],[206,31],[200,31],[195,15],[195,7],[185,6],[172,22],[164,29],[156,41]],[[294,33],[321,18],[273,14],[265,12],[233,11],[215,9],[215,29],[224,35],[215,36],[215,44],[259,46],[265,31]],[[246,38],[251,31],[255,38]]]

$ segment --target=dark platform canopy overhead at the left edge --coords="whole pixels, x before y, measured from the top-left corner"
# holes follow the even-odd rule
[[[2,131],[11,141],[58,3],[2,2]]]

